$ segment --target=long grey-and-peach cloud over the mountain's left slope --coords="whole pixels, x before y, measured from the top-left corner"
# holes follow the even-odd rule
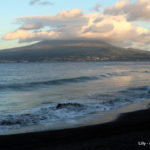
[[[88,23],[88,19],[84,17],[81,9],[73,9],[61,11],[56,15],[21,17],[17,19],[17,23],[21,24],[19,29],[6,34],[4,40],[18,39],[19,42],[30,42],[76,38],[79,37],[81,27]]]

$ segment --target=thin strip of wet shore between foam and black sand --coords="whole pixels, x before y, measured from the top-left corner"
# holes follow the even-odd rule
[[[116,120],[119,117],[119,115],[122,113],[147,109],[149,104],[150,104],[150,99],[146,99],[144,101],[137,101],[131,104],[125,104],[116,109],[110,109],[104,112],[99,112],[95,115],[85,116],[84,118],[78,117],[75,120],[72,120],[70,123],[61,120],[51,125],[26,126],[19,129],[12,129],[10,131],[6,131],[4,133],[1,133],[0,136],[33,133],[33,132],[56,131],[56,130],[91,126],[91,125],[100,125],[103,123],[109,123]]]

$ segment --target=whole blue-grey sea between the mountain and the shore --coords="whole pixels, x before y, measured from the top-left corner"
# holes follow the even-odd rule
[[[148,98],[146,61],[0,63],[0,134],[78,125]]]

